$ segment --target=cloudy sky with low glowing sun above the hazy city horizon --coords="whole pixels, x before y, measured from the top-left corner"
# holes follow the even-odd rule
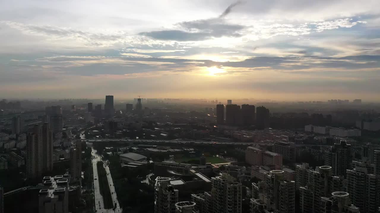
[[[380,101],[379,0],[0,1],[0,97]]]

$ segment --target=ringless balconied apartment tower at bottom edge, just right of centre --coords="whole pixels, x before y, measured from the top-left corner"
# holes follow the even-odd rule
[[[212,199],[214,212],[241,213],[242,212],[242,184],[226,173],[222,176],[212,177]]]

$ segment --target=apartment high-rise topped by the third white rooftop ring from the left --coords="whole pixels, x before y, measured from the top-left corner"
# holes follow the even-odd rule
[[[264,204],[265,208],[271,207],[282,213],[295,212],[296,182],[286,180],[283,173],[282,170],[272,170],[264,181],[252,183],[252,198],[258,200],[252,201],[251,207],[263,208],[260,204]]]

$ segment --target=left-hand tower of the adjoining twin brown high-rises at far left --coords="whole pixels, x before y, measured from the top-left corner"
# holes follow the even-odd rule
[[[36,124],[33,131],[27,135],[27,176],[29,179],[40,177],[42,174],[42,128]]]

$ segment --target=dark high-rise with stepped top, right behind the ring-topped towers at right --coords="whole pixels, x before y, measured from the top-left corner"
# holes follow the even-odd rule
[[[332,167],[332,173],[337,176],[346,176],[346,170],[351,168],[351,145],[347,141],[340,141],[331,146],[326,153],[325,164]]]

